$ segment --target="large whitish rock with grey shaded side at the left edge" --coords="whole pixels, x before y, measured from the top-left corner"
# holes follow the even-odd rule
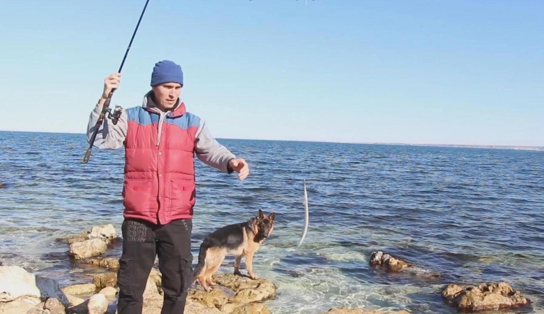
[[[0,266],[0,302],[11,302],[19,298],[31,303],[57,298],[61,303],[69,304],[57,281],[35,276],[18,266]]]

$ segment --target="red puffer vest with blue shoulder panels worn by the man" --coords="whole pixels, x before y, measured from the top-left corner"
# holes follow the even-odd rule
[[[156,110],[127,109],[123,216],[167,224],[193,217],[193,156],[200,118],[186,112],[183,103],[162,117]]]

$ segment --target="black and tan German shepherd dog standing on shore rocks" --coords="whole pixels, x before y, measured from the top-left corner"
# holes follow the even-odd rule
[[[244,256],[249,277],[258,279],[259,277],[253,273],[253,254],[274,230],[275,217],[274,212],[267,216],[259,209],[258,215],[249,221],[230,224],[207,235],[200,245],[199,263],[196,265],[193,284],[199,280],[204,290],[212,291],[208,284],[215,285],[212,274],[217,272],[226,255],[236,256],[235,275],[242,275],[240,261]]]

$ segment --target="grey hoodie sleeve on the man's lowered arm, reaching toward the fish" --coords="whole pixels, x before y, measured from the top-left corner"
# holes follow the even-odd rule
[[[228,161],[236,156],[212,137],[203,120],[200,120],[199,129],[196,131],[195,152],[206,165],[218,168],[222,172],[232,172],[228,167]]]

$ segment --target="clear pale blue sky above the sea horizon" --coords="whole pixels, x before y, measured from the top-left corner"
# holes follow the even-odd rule
[[[145,1],[0,11],[0,130],[83,133]],[[155,62],[215,137],[544,146],[543,1],[150,0],[113,103]]]

